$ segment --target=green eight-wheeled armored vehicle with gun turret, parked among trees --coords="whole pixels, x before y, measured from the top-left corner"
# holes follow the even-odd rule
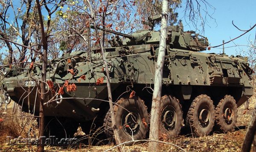
[[[119,136],[122,141],[143,139],[150,122],[160,32],[145,29],[122,34],[98,29],[114,34],[109,40],[111,47],[104,51]],[[237,107],[253,95],[253,71],[247,58],[203,53],[208,46],[207,37],[184,32],[183,26],[169,26],[167,31],[160,133],[168,137],[178,135],[183,124],[196,135],[208,135],[213,126],[221,132],[232,130],[238,117]],[[38,115],[40,92],[36,86],[41,63],[25,72],[17,66],[6,67],[3,72],[6,78],[2,87],[9,97],[23,111]],[[100,49],[53,59],[47,67],[47,84],[47,135],[71,136],[79,123],[88,121],[103,125],[105,134],[113,135]],[[55,118],[58,120],[52,123]]]

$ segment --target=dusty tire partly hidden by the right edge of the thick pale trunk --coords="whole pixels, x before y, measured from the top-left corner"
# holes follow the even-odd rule
[[[177,136],[183,123],[183,112],[179,100],[164,95],[160,106],[160,137],[165,135],[168,139]]]

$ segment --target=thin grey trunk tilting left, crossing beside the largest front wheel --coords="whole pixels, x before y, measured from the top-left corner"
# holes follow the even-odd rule
[[[90,12],[91,12],[91,16],[93,18],[93,25],[94,25],[94,29],[95,29],[95,32],[96,32],[96,36],[97,36],[97,38],[99,38],[99,33],[98,33],[96,23],[95,23],[95,16],[94,16],[93,8],[92,8],[89,0],[87,0],[87,3],[89,4],[89,7],[90,7]],[[109,73],[108,73],[108,63],[106,61],[106,57],[105,57],[105,54],[104,54],[102,40],[99,40],[99,44],[100,44],[100,48],[101,48],[101,52],[102,52],[102,59],[103,59],[106,74],[107,74],[108,100],[109,100],[109,106],[110,106],[110,111],[111,111],[111,120],[112,120],[114,138],[115,138],[116,144],[119,145],[121,143],[121,140],[120,140],[120,137],[118,135],[118,128],[116,127],[115,114],[114,114],[114,111],[113,111],[111,86],[110,86],[110,79],[109,79]],[[119,149],[120,152],[122,152],[121,146],[119,146],[118,149]]]

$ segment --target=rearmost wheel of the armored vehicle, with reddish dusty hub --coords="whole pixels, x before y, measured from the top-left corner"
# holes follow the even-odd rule
[[[215,128],[219,132],[231,131],[236,126],[237,105],[231,95],[225,95],[215,108]]]

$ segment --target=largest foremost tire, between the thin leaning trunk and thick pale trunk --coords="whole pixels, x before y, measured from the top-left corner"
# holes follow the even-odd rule
[[[119,106],[117,106],[118,104]],[[148,131],[148,112],[144,101],[140,98],[121,98],[114,106],[116,127],[122,142],[144,139]],[[128,112],[128,111],[129,112]],[[127,126],[128,125],[128,126]],[[110,109],[104,119],[105,135],[113,136]]]

